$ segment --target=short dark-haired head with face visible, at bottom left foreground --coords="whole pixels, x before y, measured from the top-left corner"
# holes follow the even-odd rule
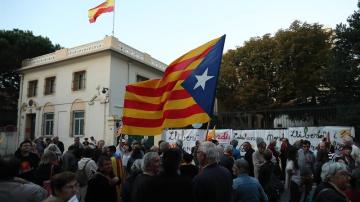
[[[68,201],[79,189],[76,175],[72,172],[61,172],[51,177],[51,187],[53,195]]]

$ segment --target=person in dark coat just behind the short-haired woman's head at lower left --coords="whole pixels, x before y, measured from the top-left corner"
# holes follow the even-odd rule
[[[60,162],[56,153],[52,151],[45,152],[35,171],[35,183],[43,186],[45,181],[50,180],[53,175],[61,171]]]

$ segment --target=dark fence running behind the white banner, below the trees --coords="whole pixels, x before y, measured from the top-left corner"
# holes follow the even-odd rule
[[[210,125],[232,129],[276,129],[303,126],[353,126],[360,139],[360,105],[220,112]],[[211,127],[211,126],[210,126]]]

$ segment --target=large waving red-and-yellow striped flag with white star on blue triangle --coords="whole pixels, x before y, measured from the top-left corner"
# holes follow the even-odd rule
[[[161,79],[126,86],[122,134],[159,135],[210,120],[225,35],[172,62]]]

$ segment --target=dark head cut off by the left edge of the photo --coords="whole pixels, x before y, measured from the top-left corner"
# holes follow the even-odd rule
[[[15,156],[0,158],[0,179],[10,179],[19,174],[20,161]]]

